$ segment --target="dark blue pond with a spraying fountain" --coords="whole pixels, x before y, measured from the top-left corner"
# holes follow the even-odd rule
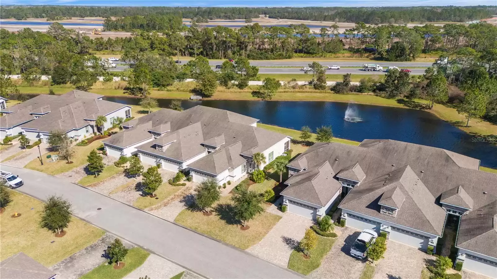
[[[138,105],[140,101],[128,97],[104,99],[129,105]],[[158,102],[160,107],[167,108],[171,99],[158,99]],[[259,119],[260,123],[295,130],[309,126],[316,131],[321,126],[331,126],[336,138],[395,139],[444,148],[480,159],[482,166],[497,168],[497,146],[478,141],[427,111],[339,102],[182,101],[184,109],[196,105],[230,110]],[[345,112],[348,121],[344,120]]]

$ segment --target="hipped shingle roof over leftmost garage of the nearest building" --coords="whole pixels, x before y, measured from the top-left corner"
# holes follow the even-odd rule
[[[316,169],[290,177],[285,182],[289,186],[281,195],[324,207],[341,188],[340,182],[333,179],[333,175],[330,163],[325,161]]]

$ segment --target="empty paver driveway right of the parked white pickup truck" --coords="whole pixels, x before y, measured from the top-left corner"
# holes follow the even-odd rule
[[[414,247],[389,240],[385,258],[378,263],[373,279],[419,279],[421,270],[430,256]]]

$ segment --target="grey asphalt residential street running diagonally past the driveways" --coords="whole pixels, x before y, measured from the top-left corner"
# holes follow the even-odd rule
[[[302,278],[248,252],[63,179],[5,165],[1,165],[1,169],[24,180],[24,186],[17,188],[17,191],[39,200],[46,200],[51,195],[62,196],[72,203],[74,215],[206,278]]]

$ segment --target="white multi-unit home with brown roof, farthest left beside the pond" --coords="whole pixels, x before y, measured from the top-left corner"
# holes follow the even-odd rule
[[[20,104],[1,109],[0,138],[19,133],[44,141],[52,131],[63,131],[81,140],[97,131],[95,120],[105,116],[103,129],[112,127],[116,117],[131,117],[131,107],[102,100],[103,95],[81,90],[66,94],[38,95]]]

